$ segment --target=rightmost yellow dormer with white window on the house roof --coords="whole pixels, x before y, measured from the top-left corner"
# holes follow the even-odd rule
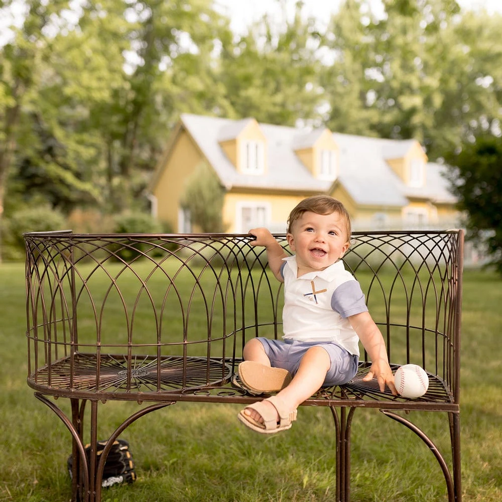
[[[418,141],[395,142],[384,149],[384,158],[407,186],[425,186],[428,158]]]

